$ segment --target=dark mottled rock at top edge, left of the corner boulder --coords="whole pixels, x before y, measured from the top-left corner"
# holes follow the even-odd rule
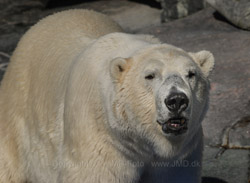
[[[157,0],[163,8],[162,21],[186,17],[204,8],[203,0]]]

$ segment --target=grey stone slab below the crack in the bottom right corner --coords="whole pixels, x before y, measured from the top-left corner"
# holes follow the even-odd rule
[[[248,150],[228,149],[220,156],[218,154],[220,154],[218,148],[205,147],[202,175],[207,178],[202,183],[248,182],[250,163]],[[209,182],[209,179],[213,181]]]

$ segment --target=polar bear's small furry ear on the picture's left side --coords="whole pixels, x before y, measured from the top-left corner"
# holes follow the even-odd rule
[[[125,71],[127,67],[127,62],[128,59],[121,57],[115,58],[110,62],[109,71],[113,79],[115,80],[120,79],[122,73]]]

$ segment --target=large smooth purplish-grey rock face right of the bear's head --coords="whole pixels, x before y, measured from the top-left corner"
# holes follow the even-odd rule
[[[207,8],[141,33],[154,34],[188,51],[206,49],[214,54],[210,109],[203,127],[205,143],[218,146],[227,127],[250,115],[250,32],[216,19],[214,12]]]

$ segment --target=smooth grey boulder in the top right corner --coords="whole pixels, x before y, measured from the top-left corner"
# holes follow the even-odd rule
[[[206,0],[234,25],[250,30],[249,0]]]

